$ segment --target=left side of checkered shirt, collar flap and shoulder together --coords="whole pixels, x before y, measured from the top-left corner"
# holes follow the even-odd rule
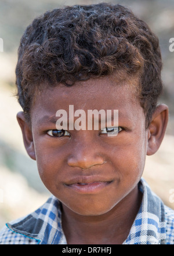
[[[66,243],[61,229],[59,200],[54,196],[26,217],[17,219],[0,230],[0,244]]]

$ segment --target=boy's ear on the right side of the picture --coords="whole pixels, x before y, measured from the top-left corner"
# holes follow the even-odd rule
[[[147,156],[151,156],[159,149],[168,124],[169,110],[165,104],[160,104],[154,111],[148,126]]]

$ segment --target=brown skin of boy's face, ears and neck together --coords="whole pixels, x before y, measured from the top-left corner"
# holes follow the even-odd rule
[[[70,88],[57,85],[37,97],[31,124],[23,112],[17,114],[29,156],[37,160],[46,188],[62,203],[68,244],[122,244],[139,210],[142,194],[137,184],[146,155],[157,152],[164,138],[168,107],[159,105],[146,129],[133,83],[121,84],[111,75]],[[56,111],[68,113],[70,104],[74,111],[86,113],[88,109],[118,110],[118,135],[109,137],[102,129],[74,129],[59,138],[53,136]]]

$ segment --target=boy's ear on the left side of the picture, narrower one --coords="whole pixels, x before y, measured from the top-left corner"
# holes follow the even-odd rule
[[[27,153],[33,160],[36,160],[31,127],[24,117],[24,112],[17,113],[17,121],[23,134],[24,146],[26,147]]]

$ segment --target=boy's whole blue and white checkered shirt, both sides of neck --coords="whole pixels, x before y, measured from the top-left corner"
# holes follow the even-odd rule
[[[174,211],[166,207],[144,179],[142,204],[123,244],[174,244]],[[61,226],[59,200],[51,196],[37,211],[7,223],[0,244],[67,244]]]

